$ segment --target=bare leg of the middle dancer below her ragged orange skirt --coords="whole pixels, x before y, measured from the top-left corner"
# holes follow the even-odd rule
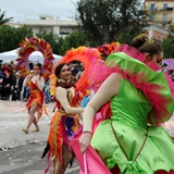
[[[64,174],[71,160],[72,160],[72,152],[67,149],[66,146],[63,145],[63,169],[58,164],[57,174]]]

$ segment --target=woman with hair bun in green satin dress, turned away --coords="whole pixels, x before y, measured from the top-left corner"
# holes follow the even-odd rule
[[[92,82],[101,86],[84,111],[80,151],[91,145],[113,174],[172,174],[174,144],[160,126],[174,110],[170,85],[159,71],[163,50],[145,34],[132,46],[121,45],[101,70],[94,66]],[[108,101],[112,114],[91,136],[94,115]]]

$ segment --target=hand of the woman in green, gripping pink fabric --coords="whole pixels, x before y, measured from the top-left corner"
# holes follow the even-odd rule
[[[91,140],[91,133],[85,132],[80,138],[79,138],[79,145],[80,145],[80,152],[85,153],[86,150],[88,149]]]

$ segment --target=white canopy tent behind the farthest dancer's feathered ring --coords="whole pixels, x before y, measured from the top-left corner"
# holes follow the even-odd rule
[[[18,49],[14,49],[11,51],[0,53],[0,60],[2,61],[2,63],[10,63],[10,61],[12,60],[15,61],[18,58],[17,50]],[[53,57],[54,57],[53,63],[57,63],[58,61],[62,59],[61,55],[53,54]],[[28,57],[28,60],[33,63],[44,64],[42,53],[39,51],[34,51],[33,53],[30,53],[30,55]]]

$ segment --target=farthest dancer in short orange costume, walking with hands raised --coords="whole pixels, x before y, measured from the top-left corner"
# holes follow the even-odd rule
[[[26,108],[28,109],[28,122],[25,128],[22,130],[28,134],[32,123],[35,125],[33,133],[39,132],[38,121],[42,114],[42,104],[44,104],[44,87],[45,78],[40,75],[41,65],[34,65],[33,74],[29,74],[25,77],[23,86],[29,88],[29,98],[26,102]],[[37,112],[37,117],[35,114]]]

